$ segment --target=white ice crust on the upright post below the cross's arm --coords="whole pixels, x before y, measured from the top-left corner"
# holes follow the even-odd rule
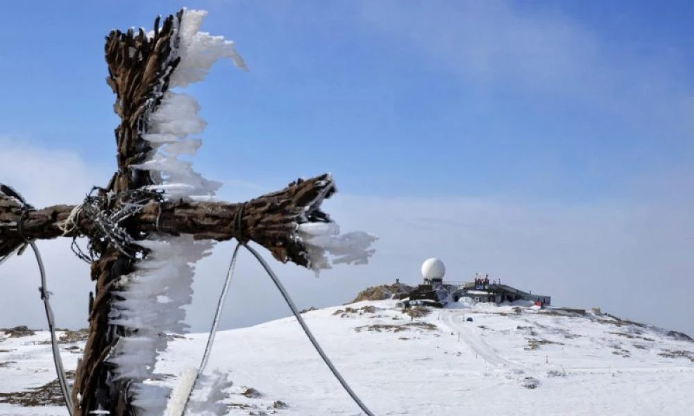
[[[115,379],[131,379],[133,405],[138,415],[162,415],[169,389],[145,384],[153,376],[157,355],[167,347],[165,332],[187,331],[183,307],[192,300],[194,266],[212,248],[208,241],[194,241],[189,234],[178,237],[153,236],[142,241],[151,253],[137,270],[124,276],[120,297],[112,302],[110,323],[121,325],[133,336],[120,338],[109,363],[117,365]]]

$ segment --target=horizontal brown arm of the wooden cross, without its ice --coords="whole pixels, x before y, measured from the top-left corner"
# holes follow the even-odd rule
[[[309,266],[307,248],[296,238],[297,227],[302,223],[328,222],[329,217],[320,205],[332,193],[335,184],[325,174],[291,182],[285,189],[243,204],[151,200],[126,219],[124,225],[135,229],[135,234],[142,238],[162,232],[192,234],[195,239],[254,241],[279,261]],[[80,215],[70,218],[75,208],[75,205],[53,205],[25,209],[15,198],[0,195],[0,257],[24,244],[25,239],[94,235],[96,225],[92,218]]]

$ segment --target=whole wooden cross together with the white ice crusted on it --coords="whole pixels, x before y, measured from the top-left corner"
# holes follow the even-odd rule
[[[154,318],[139,311],[138,305],[147,297],[156,304],[157,294],[171,289],[158,287],[154,280],[167,277],[166,272],[151,276],[143,270],[157,265],[183,270],[192,281],[189,263],[199,257],[188,261],[185,250],[207,247],[196,249],[195,241],[257,243],[278,261],[316,272],[335,263],[366,263],[374,252],[370,247],[375,236],[340,234],[337,224],[321,211],[323,200],[337,192],[328,174],[296,180],[285,189],[242,203],[215,202],[196,198],[201,190],[204,196],[210,181],[176,157],[160,154],[162,149],[176,153],[199,145],[186,138],[197,133],[186,130],[189,125],[183,130],[171,127],[180,121],[172,108],[196,107],[191,97],[169,91],[177,69],[188,78],[179,76],[176,82],[187,85],[201,80],[219,56],[238,64],[231,42],[197,31],[203,16],[204,12],[184,9],[163,21],[157,18],[151,33],[130,29],[106,37],[107,82],[116,94],[114,109],[121,119],[115,130],[117,172],[107,187],[95,188],[81,205],[35,209],[0,184],[0,260],[28,240],[86,237],[89,241],[88,253],[79,254],[90,261],[95,288],[88,303],[89,336],[71,394],[74,416],[163,413],[167,390],[148,390],[152,386],[142,382],[153,374],[155,354],[166,347],[164,332],[185,327],[181,324],[185,315],[171,309],[175,316],[169,317],[166,309],[155,318],[169,327],[152,327]],[[210,60],[211,51],[221,55]],[[183,252],[167,258],[160,249],[164,246]],[[167,261],[178,261],[177,268]],[[168,276],[168,284],[177,284],[178,277]],[[192,295],[185,290],[168,294],[177,298],[178,306],[187,304]],[[151,362],[140,356],[139,345],[151,353]],[[146,371],[133,366],[141,362]],[[130,372],[124,370],[128,365]]]

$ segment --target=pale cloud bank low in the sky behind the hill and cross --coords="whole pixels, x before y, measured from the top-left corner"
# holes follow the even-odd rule
[[[93,183],[102,184],[108,178],[104,169],[89,166],[69,152],[8,146],[7,141],[0,148],[0,182],[16,186],[37,205],[76,202]],[[669,182],[670,188],[663,187],[663,182]],[[338,267],[318,279],[294,265],[271,264],[301,307],[348,302],[366,286],[396,278],[416,284],[421,261],[437,256],[446,261],[449,279],[489,272],[509,284],[551,295],[557,304],[601,306],[617,315],[694,333],[691,301],[681,290],[694,271],[691,184],[686,175],[673,174],[641,186],[651,191],[639,189],[639,195],[657,198],[567,205],[338,193],[326,207],[342,227],[380,235],[373,262]],[[237,182],[224,188],[221,197],[250,198],[255,188]],[[70,252],[69,241],[42,242],[40,248],[46,257],[58,325],[84,327],[87,293],[92,290],[88,266]],[[221,243],[212,256],[198,263],[189,309],[189,322],[196,331],[208,329],[232,248],[231,242]],[[31,256],[3,264],[0,281],[0,327],[43,327],[38,275]],[[289,311],[269,278],[250,254],[242,254],[222,326],[244,326],[285,315]]]

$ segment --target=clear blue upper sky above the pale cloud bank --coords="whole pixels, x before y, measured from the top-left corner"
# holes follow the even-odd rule
[[[261,183],[332,171],[362,194],[581,201],[692,161],[694,6],[522,3],[187,3],[251,70],[219,64],[192,89],[210,123],[196,166]],[[5,10],[3,132],[111,164],[103,36],[174,3]]]

